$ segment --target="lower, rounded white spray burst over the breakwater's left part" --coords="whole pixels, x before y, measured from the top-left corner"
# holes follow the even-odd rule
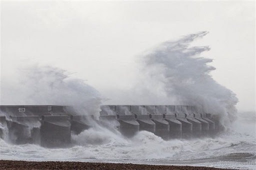
[[[3,79],[1,104],[64,105],[72,114],[99,116],[100,94],[83,80],[51,66],[23,66],[16,78]]]

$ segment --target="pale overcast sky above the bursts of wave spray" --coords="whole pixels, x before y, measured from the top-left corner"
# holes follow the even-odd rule
[[[209,31],[211,75],[255,109],[254,1],[1,1],[1,76],[22,62],[57,66],[102,95],[136,81],[137,57],[166,40]],[[20,62],[21,61],[21,62]]]

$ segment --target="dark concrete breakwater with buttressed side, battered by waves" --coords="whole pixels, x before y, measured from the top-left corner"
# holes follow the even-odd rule
[[[100,116],[75,113],[67,106],[0,106],[0,138],[13,144],[44,147],[70,145],[95,125],[115,128],[123,136],[151,132],[164,140],[212,136],[220,130],[218,120],[187,105],[102,105]]]

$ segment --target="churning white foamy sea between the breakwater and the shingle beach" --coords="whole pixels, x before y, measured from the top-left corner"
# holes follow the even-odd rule
[[[230,129],[214,138],[164,141],[141,131],[127,139],[102,127],[72,135],[72,146],[48,149],[0,140],[1,160],[79,161],[189,165],[256,170],[255,113],[239,113]]]

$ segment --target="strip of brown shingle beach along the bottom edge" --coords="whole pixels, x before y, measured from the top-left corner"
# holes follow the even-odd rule
[[[0,160],[0,170],[223,170],[207,167],[181,167],[83,162],[26,162]],[[227,169],[225,169],[227,170]]]

